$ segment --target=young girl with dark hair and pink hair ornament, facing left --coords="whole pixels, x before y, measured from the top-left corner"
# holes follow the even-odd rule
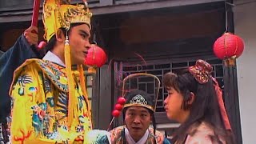
[[[222,91],[211,72],[209,63],[198,60],[182,74],[164,75],[167,117],[181,123],[173,143],[234,143]]]

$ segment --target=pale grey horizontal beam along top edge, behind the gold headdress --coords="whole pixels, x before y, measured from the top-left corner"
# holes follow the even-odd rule
[[[153,10],[159,8],[167,8],[174,6],[189,6],[203,4],[208,2],[224,2],[224,0],[122,0],[114,4],[114,0],[100,0],[99,3],[90,5],[90,10],[94,15],[100,14],[115,14],[123,12],[131,12],[138,10]],[[0,9],[0,23],[4,22],[26,22],[32,17],[32,6],[29,8],[18,9]],[[42,19],[42,10],[40,10],[39,19]]]

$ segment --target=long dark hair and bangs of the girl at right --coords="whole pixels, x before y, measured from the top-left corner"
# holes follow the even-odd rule
[[[222,115],[218,106],[218,99],[214,89],[212,78],[209,76],[209,82],[200,84],[188,70],[182,74],[167,73],[163,77],[163,85],[170,89],[177,90],[183,96],[181,109],[190,110],[190,115],[179,126],[174,133],[172,141],[184,143],[188,134],[193,135],[202,122],[214,131],[214,136],[210,136],[212,142],[222,143],[224,140],[227,144],[234,143],[234,136],[230,130],[226,130],[222,122]],[[194,93],[194,102],[189,104],[190,92]]]

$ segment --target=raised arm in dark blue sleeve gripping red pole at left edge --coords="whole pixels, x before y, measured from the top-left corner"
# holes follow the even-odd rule
[[[36,32],[36,33],[34,33]],[[28,58],[38,58],[32,45],[38,43],[38,28],[30,26],[9,50],[0,57],[0,142],[7,142],[6,117],[10,114],[10,84],[14,70]]]

